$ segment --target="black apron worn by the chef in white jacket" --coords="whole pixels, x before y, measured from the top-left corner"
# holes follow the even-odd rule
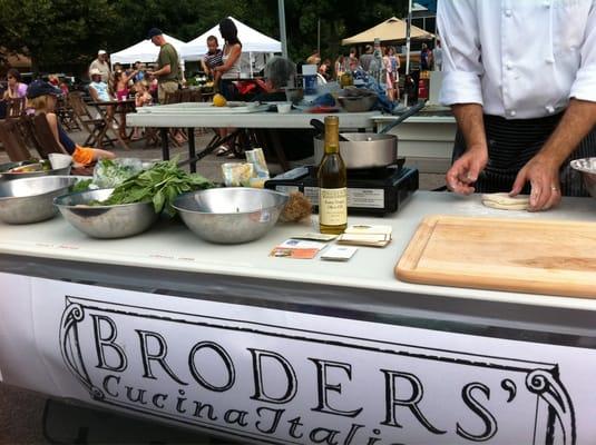
[[[563,113],[536,119],[507,120],[499,116],[485,115],[485,131],[488,145],[488,164],[476,181],[477,192],[510,191],[519,170],[545,145]],[[452,161],[466,151],[463,135],[458,129]],[[579,171],[569,161],[596,156],[596,128],[589,132],[569,158],[563,162],[559,179],[564,196],[588,196]],[[522,194],[530,192],[527,182]]]

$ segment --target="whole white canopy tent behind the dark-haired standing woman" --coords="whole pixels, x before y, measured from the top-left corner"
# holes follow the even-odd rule
[[[265,66],[265,55],[282,52],[282,43],[262,32],[244,24],[229,17],[238,29],[238,39],[242,42],[241,72],[253,73],[260,71]],[[201,60],[207,52],[207,37],[215,36],[223,47],[223,38],[219,33],[219,26],[216,24],[208,31],[190,40],[182,47],[180,56],[184,60]]]

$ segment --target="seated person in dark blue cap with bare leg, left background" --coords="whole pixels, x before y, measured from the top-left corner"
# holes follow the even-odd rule
[[[114,159],[116,155],[111,151],[81,147],[69,138],[55,113],[56,98],[61,93],[62,91],[59,88],[42,80],[36,80],[27,90],[27,106],[35,109],[36,115],[46,115],[56,141],[63,154],[72,156],[72,162],[76,167],[89,166],[98,159]]]

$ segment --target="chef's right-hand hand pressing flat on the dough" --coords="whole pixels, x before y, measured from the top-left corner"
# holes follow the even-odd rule
[[[560,201],[559,166],[538,154],[517,174],[510,196],[518,195],[526,182],[531,186],[529,211],[548,210]]]

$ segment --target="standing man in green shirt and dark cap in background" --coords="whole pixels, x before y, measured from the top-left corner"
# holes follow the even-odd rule
[[[159,103],[164,103],[166,93],[173,93],[179,87],[180,59],[176,48],[166,41],[160,29],[152,28],[148,33],[148,39],[150,39],[155,46],[159,47],[157,71],[154,71],[153,75],[157,77],[157,81],[159,82],[157,98]]]

